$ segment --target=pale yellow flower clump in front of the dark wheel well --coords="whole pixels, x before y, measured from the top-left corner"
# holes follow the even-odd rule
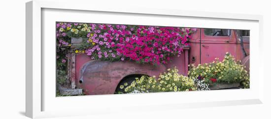
[[[120,85],[120,88],[123,89],[124,85]],[[125,93],[133,93],[135,90],[138,92],[190,91],[197,90],[197,87],[193,79],[178,74],[175,67],[168,69],[167,73],[160,74],[158,79],[155,76],[136,78],[124,89]]]

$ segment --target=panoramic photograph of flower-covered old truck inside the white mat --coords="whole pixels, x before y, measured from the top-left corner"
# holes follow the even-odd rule
[[[56,22],[56,96],[246,89],[249,30]]]

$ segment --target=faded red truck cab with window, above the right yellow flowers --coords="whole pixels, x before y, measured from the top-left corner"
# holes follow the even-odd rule
[[[249,34],[247,33],[249,33],[247,30],[203,28],[197,30],[190,40],[189,63],[197,66],[210,63],[215,58],[222,61],[225,52],[231,53],[236,60],[249,57]],[[242,43],[241,40],[243,40]]]

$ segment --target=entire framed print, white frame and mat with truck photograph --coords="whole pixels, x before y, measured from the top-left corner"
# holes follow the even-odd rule
[[[28,117],[262,103],[262,16],[60,1],[26,4]]]

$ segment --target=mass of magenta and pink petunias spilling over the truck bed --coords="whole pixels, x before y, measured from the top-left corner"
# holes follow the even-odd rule
[[[172,55],[180,55],[196,28],[137,25],[58,23],[58,46],[67,45],[63,37],[87,38],[81,51],[92,59],[133,60],[137,63],[166,64]],[[84,35],[84,36],[82,36]],[[67,37],[66,37],[67,38]],[[64,42],[64,43],[63,43]]]

